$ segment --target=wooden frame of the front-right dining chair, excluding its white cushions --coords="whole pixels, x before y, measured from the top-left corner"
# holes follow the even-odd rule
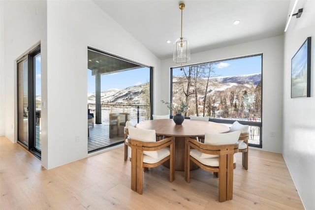
[[[219,155],[219,167],[207,166],[190,156],[190,148],[206,154]],[[233,155],[238,152],[238,142],[230,145],[206,145],[195,139],[186,137],[185,141],[185,179],[190,180],[190,161],[197,164],[205,171],[219,175],[219,201],[232,200],[233,198]]]

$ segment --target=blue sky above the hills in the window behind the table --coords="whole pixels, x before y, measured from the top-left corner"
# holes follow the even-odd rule
[[[261,55],[219,61],[215,65],[214,75],[212,76],[235,76],[253,73],[261,73]],[[180,68],[174,68],[173,75],[182,75]]]

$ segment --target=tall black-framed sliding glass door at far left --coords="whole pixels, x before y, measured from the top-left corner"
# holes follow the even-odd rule
[[[18,143],[40,158],[40,46],[17,61]]]

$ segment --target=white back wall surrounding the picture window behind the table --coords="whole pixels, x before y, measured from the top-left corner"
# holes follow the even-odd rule
[[[189,64],[258,53],[263,53],[262,150],[282,153],[283,36],[192,54]],[[172,66],[175,66],[173,60],[162,60],[161,80],[168,84]],[[169,86],[161,86],[159,97],[169,100]],[[159,112],[167,113],[167,108],[159,105]],[[275,132],[275,137],[271,137],[270,132]]]

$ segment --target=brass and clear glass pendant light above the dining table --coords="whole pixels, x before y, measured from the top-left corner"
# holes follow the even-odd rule
[[[183,37],[183,10],[185,9],[185,4],[180,3],[179,8],[182,11],[181,16],[181,37],[176,39],[174,43],[173,60],[176,63],[185,63],[190,60],[190,48],[188,39]]]

